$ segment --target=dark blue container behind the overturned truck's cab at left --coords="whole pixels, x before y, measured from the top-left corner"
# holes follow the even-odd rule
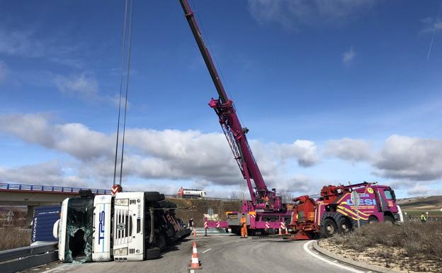
[[[33,227],[30,242],[57,242],[52,235],[55,222],[60,219],[62,206],[36,206],[34,208]]]

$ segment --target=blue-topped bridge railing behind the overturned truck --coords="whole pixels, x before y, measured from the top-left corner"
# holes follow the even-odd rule
[[[81,189],[71,186],[43,186],[43,185],[28,185],[28,184],[9,184],[0,183],[0,190],[6,189],[11,191],[45,191],[45,192],[60,192],[60,193],[78,193]],[[93,194],[111,194],[108,189],[90,189]]]

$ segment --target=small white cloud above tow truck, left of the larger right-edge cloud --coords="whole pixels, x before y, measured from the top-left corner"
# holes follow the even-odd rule
[[[365,140],[342,138],[329,140],[325,147],[325,155],[341,158],[351,162],[370,161],[373,147]]]

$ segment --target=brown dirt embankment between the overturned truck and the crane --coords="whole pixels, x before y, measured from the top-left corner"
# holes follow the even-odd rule
[[[174,202],[178,208],[176,215],[188,223],[188,219],[193,217],[196,227],[203,227],[203,215],[208,213],[208,208],[213,208],[213,213],[217,214],[221,220],[226,220],[226,211],[239,211],[241,201],[222,201],[212,199],[167,199]]]

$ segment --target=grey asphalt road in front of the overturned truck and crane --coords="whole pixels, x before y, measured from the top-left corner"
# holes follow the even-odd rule
[[[198,255],[203,269],[196,272],[365,272],[324,257],[308,248],[306,241],[281,239],[242,239],[237,236],[196,238]],[[193,238],[171,247],[158,260],[143,262],[91,262],[85,264],[47,264],[28,272],[189,272]],[[306,249],[307,248],[307,249]]]

